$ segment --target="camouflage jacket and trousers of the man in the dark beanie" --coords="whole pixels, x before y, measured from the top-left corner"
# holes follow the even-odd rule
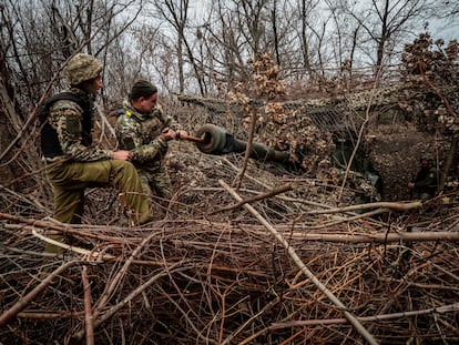
[[[115,125],[120,149],[133,152],[132,162],[137,168],[146,193],[171,199],[172,185],[164,162],[167,143],[159,136],[165,128],[175,131],[177,123],[160,105],[152,113],[144,114],[124,100],[122,109]]]

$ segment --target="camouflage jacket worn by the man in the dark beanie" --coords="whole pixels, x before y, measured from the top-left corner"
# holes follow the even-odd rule
[[[134,165],[160,166],[167,153],[167,143],[160,135],[165,128],[177,129],[173,118],[164,113],[160,105],[151,113],[141,113],[129,100],[123,102],[116,116],[115,130],[120,149],[133,152]]]

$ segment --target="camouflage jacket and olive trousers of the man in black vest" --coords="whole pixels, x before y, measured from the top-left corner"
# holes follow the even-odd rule
[[[70,91],[90,98],[79,89]],[[93,186],[114,186],[124,193],[133,222],[141,223],[150,217],[149,203],[132,163],[112,160],[112,151],[82,143],[83,110],[79,104],[70,100],[57,101],[48,121],[57,130],[63,152],[61,156],[45,160],[47,177],[54,191],[55,220],[80,223],[84,189]]]

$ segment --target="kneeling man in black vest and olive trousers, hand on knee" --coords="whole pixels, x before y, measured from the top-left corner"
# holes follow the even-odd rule
[[[132,153],[92,144],[93,102],[102,88],[101,71],[94,57],[74,55],[65,68],[70,89],[51,98],[41,115],[41,151],[47,177],[54,190],[53,217],[63,223],[80,223],[84,189],[112,185],[123,193],[130,220],[142,224],[152,216],[139,174],[130,162]]]

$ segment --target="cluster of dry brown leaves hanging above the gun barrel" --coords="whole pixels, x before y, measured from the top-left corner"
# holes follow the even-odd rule
[[[278,102],[285,97],[285,82],[272,55],[263,54],[248,63],[253,65],[252,80],[228,92],[230,100],[242,103],[246,129],[251,119],[256,119],[255,141],[288,150],[292,162],[314,175],[326,173],[330,165],[328,153],[334,146],[332,133],[318,129],[303,112]]]

